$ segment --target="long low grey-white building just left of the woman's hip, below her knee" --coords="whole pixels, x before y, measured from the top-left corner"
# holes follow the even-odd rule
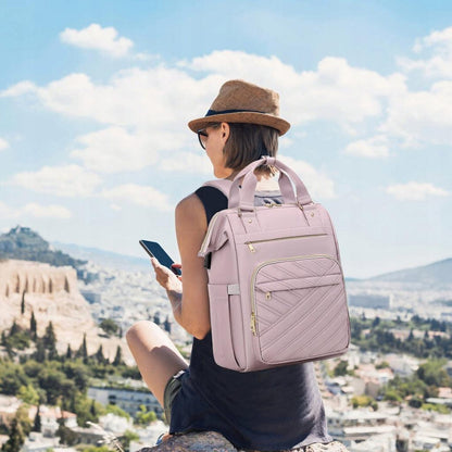
[[[104,405],[117,405],[134,417],[140,411],[140,405],[145,405],[148,411],[155,412],[158,416],[163,414],[162,406],[151,392],[91,387],[88,389],[88,397]]]

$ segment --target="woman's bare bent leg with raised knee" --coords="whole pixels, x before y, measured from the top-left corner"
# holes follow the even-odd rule
[[[163,394],[170,378],[188,367],[168,336],[154,323],[141,321],[126,334],[142,379],[164,407]]]

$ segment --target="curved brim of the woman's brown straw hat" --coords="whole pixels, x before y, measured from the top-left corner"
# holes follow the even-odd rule
[[[209,127],[212,123],[246,123],[246,124],[258,124],[262,126],[268,126],[276,128],[279,131],[279,136],[286,134],[290,128],[290,124],[280,118],[266,113],[255,112],[236,112],[236,113],[223,113],[214,114],[212,116],[204,116],[198,120],[190,121],[188,127],[197,133],[205,127]]]

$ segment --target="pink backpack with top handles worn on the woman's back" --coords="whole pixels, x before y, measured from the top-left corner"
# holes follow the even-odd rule
[[[254,205],[253,171],[264,163],[279,170],[284,204]],[[205,185],[229,200],[198,254],[209,275],[215,362],[250,372],[344,353],[350,321],[335,230],[297,174],[265,156],[234,181]]]

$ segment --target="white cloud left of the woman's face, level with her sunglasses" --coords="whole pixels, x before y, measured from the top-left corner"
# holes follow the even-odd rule
[[[155,163],[158,150],[165,142],[155,141],[148,135],[129,134],[121,127],[109,127],[78,137],[84,148],[74,150],[71,155],[81,159],[85,166],[102,173],[139,171]]]

